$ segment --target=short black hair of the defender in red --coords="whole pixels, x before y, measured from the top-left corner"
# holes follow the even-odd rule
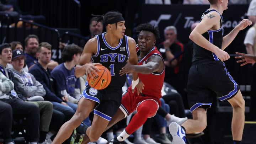
[[[155,26],[151,25],[150,23],[142,23],[139,26],[137,26],[135,29],[136,29],[137,35],[141,31],[149,31],[154,34],[155,39],[160,38],[158,27],[155,27]]]

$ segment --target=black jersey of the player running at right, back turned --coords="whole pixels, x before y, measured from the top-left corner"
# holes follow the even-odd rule
[[[209,12],[212,12],[212,11],[216,11],[216,10],[212,9],[212,10],[207,10],[206,12],[204,12],[201,17],[201,20],[203,19],[203,17],[205,15],[207,15]],[[220,13],[219,13],[219,15],[220,15]],[[223,20],[223,17],[222,17],[222,15],[220,15],[220,17],[221,17],[221,19],[220,19],[221,27],[218,30],[208,30],[207,32],[203,33],[202,36],[204,38],[206,38],[210,43],[212,43],[215,46],[222,49],[222,40],[223,40],[222,20]],[[193,62],[212,61],[212,60],[219,60],[218,57],[215,55],[215,53],[198,46],[196,43],[193,44],[192,63]]]

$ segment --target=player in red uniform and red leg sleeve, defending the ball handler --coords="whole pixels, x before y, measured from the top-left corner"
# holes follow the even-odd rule
[[[134,110],[137,113],[132,117],[128,126],[123,132],[111,140],[110,144],[125,144],[125,139],[129,137],[135,130],[142,126],[146,119],[153,117],[161,102],[161,89],[164,84],[164,60],[158,49],[155,47],[156,39],[159,38],[159,30],[150,23],[144,23],[136,27],[138,34],[138,46],[136,48],[138,55],[138,65],[126,64],[120,74],[125,75],[134,71],[138,72],[140,83],[145,82],[142,91],[135,89],[132,92],[131,86],[123,93],[122,103],[117,113],[112,117],[106,129],[115,123],[127,117]],[[90,142],[85,138],[83,143]]]

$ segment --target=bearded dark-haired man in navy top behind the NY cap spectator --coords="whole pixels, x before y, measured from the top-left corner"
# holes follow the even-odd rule
[[[37,47],[39,44],[39,39],[36,35],[30,34],[25,38],[25,53],[26,53],[26,63],[28,66],[28,69],[30,69],[32,66],[34,66],[38,58],[36,56],[37,53]],[[59,65],[58,62],[55,62],[54,60],[50,60],[48,66],[48,69],[53,70],[55,66]]]

